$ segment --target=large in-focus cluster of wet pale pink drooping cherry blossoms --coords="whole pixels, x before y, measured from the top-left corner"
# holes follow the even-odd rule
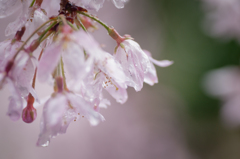
[[[126,0],[112,2],[122,8]],[[91,125],[103,121],[99,109],[110,105],[103,91],[123,104],[128,87],[140,91],[144,82],[158,82],[153,64],[172,64],[154,60],[129,35],[120,36],[88,13],[87,9],[98,10],[103,3],[104,0],[0,1],[0,17],[22,8],[6,29],[6,35],[15,35],[14,38],[0,43],[0,86],[9,85],[12,94],[7,114],[12,120],[22,117],[26,123],[33,122],[37,117],[34,103],[40,102],[35,92],[36,79],[51,83],[54,88],[44,104],[38,146],[47,146],[52,137],[65,133],[68,125],[79,118],[86,118]],[[52,14],[55,9],[57,15]],[[96,22],[116,41],[113,54],[104,51],[90,35],[89,31],[97,28]]]

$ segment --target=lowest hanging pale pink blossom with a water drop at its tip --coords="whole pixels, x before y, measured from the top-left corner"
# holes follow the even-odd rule
[[[61,79],[57,80],[57,83],[59,82]],[[63,87],[61,83],[57,85]],[[81,96],[58,88],[58,92],[44,105],[37,146],[47,146],[51,138],[66,133],[69,124],[81,117],[88,119],[91,125],[104,121],[104,117],[93,107],[94,105]]]

